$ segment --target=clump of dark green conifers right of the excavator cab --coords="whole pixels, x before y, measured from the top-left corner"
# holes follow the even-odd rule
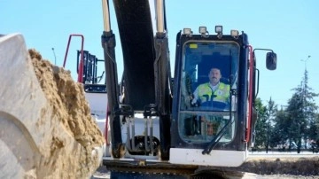
[[[307,86],[307,70],[300,85],[292,89],[294,93],[288,100],[285,108],[277,110],[277,106],[271,97],[268,105],[261,104],[257,98],[254,107],[258,113],[255,128],[255,145],[273,147],[278,144],[287,144],[289,150],[292,144],[297,144],[297,152],[300,152],[301,141],[307,139],[315,140],[319,145],[319,114],[315,105],[314,97],[318,94],[312,92]],[[307,145],[305,144],[305,147]]]

